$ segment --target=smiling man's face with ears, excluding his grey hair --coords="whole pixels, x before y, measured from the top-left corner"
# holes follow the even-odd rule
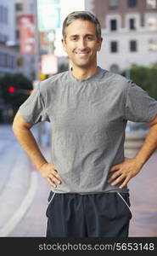
[[[66,27],[66,38],[62,39],[64,51],[69,55],[72,66],[91,67],[97,65],[97,51],[102,38],[96,36],[96,27],[89,20],[75,20]]]

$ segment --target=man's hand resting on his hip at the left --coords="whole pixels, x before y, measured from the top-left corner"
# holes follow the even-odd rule
[[[39,168],[39,172],[41,172],[42,177],[45,177],[53,188],[56,188],[61,183],[58,171],[53,163],[43,164]]]

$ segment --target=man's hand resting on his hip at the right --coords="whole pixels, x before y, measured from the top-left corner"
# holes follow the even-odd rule
[[[109,172],[115,171],[115,173],[109,177],[108,182],[111,183],[112,186],[115,186],[117,183],[123,181],[119,187],[123,189],[130,179],[140,172],[141,168],[142,166],[139,165],[136,158],[125,158],[124,162],[110,168]]]

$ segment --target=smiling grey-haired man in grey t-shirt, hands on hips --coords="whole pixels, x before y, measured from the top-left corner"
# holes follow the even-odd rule
[[[68,15],[62,44],[71,70],[42,81],[14,118],[14,134],[51,185],[48,237],[127,237],[127,183],[157,148],[157,102],[131,80],[97,66],[102,40],[93,14]],[[127,120],[151,125],[132,159],[124,156]],[[41,121],[51,123],[50,163],[31,134]]]

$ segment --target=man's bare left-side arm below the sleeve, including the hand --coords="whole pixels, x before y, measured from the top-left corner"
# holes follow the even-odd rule
[[[56,185],[60,183],[59,174],[54,164],[48,163],[43,156],[36,143],[35,137],[33,137],[31,133],[31,127],[32,125],[26,123],[18,111],[13,122],[14,135],[17,137],[21,147],[24,148],[26,154],[31,158],[36,169],[41,172],[42,176],[55,188]]]

